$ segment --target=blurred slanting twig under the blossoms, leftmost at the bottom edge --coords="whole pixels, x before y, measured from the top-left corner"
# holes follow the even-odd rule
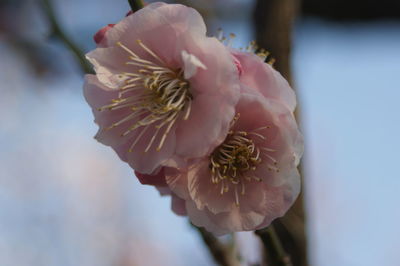
[[[202,227],[197,227],[192,224],[194,228],[197,229],[201,238],[206,244],[208,250],[213,256],[215,262],[220,266],[238,266],[240,265],[237,259],[234,256],[234,252],[232,249],[229,249],[227,246],[222,244],[218,238],[216,238],[213,234],[207,232]]]

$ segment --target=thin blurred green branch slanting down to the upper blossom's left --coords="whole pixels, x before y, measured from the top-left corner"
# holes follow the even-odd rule
[[[76,46],[61,29],[60,24],[58,23],[55,16],[53,6],[51,5],[51,1],[42,0],[42,6],[43,11],[47,16],[47,19],[50,22],[52,35],[60,39],[64,43],[64,45],[71,50],[71,52],[75,55],[75,58],[78,60],[84,73],[93,73],[93,69],[86,60],[81,49],[79,49],[78,46]]]

